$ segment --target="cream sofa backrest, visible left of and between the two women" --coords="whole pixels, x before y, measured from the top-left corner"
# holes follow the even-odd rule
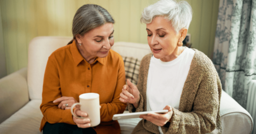
[[[27,85],[30,99],[42,99],[42,84],[48,57],[56,49],[66,46],[72,37],[39,36],[29,44],[29,61],[27,65]],[[111,48],[122,56],[141,60],[151,50],[148,44],[115,42]]]

